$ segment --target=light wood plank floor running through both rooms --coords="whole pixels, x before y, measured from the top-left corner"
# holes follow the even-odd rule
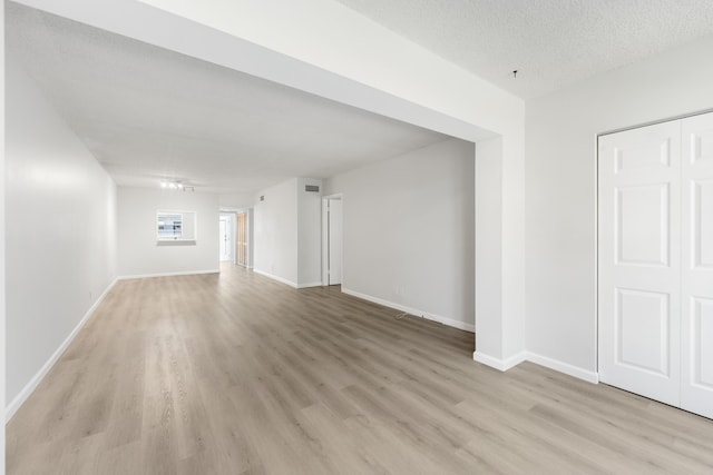
[[[713,422],[397,314],[232,266],[120,281],[8,425],[8,473],[713,473]]]

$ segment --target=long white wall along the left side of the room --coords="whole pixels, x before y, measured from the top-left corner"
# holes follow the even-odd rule
[[[6,73],[12,413],[116,276],[116,187],[10,55]]]

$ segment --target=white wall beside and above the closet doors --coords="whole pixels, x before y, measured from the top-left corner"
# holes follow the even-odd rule
[[[527,102],[527,349],[596,362],[596,135],[713,108],[713,37]],[[541,359],[541,358],[540,358]]]

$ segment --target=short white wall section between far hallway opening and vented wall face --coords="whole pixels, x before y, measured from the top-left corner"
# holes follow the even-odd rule
[[[261,201],[260,197],[265,200]],[[254,207],[256,273],[297,286],[297,179],[260,191]]]

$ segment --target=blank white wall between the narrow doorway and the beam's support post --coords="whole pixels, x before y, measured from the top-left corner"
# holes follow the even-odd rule
[[[452,139],[325,180],[343,194],[342,289],[473,329],[473,156]]]

